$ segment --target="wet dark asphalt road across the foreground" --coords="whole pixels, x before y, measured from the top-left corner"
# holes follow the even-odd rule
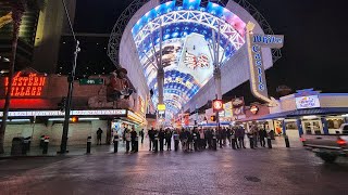
[[[0,194],[347,194],[348,162],[301,148],[0,160]]]

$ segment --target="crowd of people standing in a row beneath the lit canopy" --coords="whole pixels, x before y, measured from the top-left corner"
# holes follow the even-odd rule
[[[144,131],[142,131],[144,132]],[[147,136],[149,138],[149,151],[158,152],[172,150],[172,140],[174,150],[177,151],[179,145],[185,152],[216,150],[216,147],[232,147],[234,150],[246,148],[245,138],[249,138],[251,148],[260,146],[265,147],[268,132],[257,126],[246,132],[241,126],[233,128],[186,128],[186,129],[150,129]]]

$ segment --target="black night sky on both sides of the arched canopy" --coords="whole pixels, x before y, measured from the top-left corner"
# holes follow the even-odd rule
[[[132,0],[77,0],[76,31],[110,34],[119,15],[130,2]],[[283,57],[266,72],[270,95],[278,96],[275,89],[281,84],[286,84],[293,90],[314,88],[323,92],[348,92],[346,84],[348,53],[345,50],[348,46],[346,1],[249,0],[249,2],[266,18],[275,34],[285,35]],[[90,40],[89,43],[94,41],[96,40]],[[102,63],[108,70],[113,68],[105,51],[102,51],[108,39],[101,42],[103,46],[98,46],[100,51],[94,58],[90,58],[88,53],[84,55],[82,52],[80,74],[85,70],[87,62]],[[94,52],[94,49],[89,50]],[[63,61],[62,57],[60,61]],[[100,69],[96,72],[101,73]],[[250,96],[249,90],[249,83],[244,83],[227,96]],[[250,101],[252,99],[247,102]]]

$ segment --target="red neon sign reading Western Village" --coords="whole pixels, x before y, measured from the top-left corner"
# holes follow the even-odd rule
[[[22,75],[20,72],[12,81],[11,96],[13,98],[35,98],[41,96],[46,84],[46,76],[37,74]],[[9,86],[9,78],[4,81],[5,89]]]

